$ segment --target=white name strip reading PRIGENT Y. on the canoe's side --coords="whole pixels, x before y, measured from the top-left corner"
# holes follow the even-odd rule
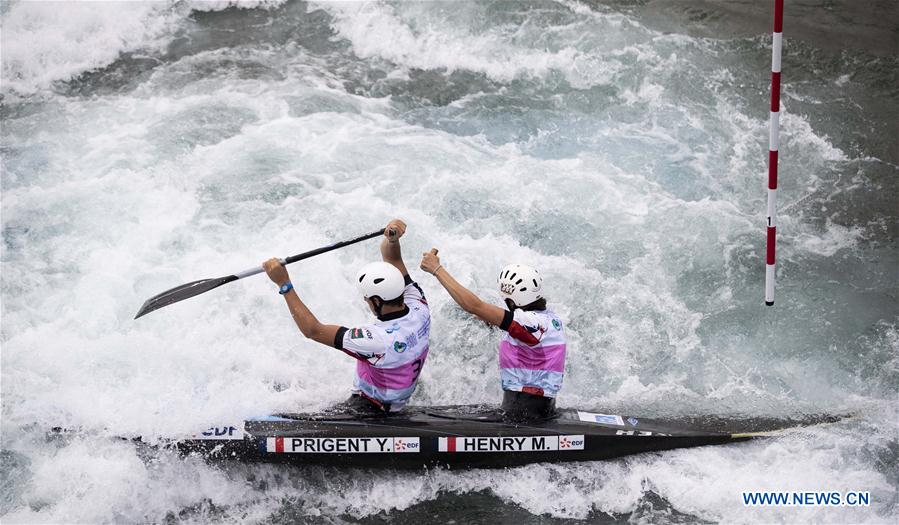
[[[384,454],[419,452],[417,437],[265,439],[265,451],[274,454]]]

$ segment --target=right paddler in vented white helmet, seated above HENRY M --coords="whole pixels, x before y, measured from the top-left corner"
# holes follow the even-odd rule
[[[559,316],[546,307],[539,272],[523,264],[503,268],[498,278],[508,308],[503,309],[459,284],[440,264],[436,249],[422,254],[421,269],[437,277],[466,312],[505,331],[499,344],[505,416],[552,417],[565,374],[565,333]]]

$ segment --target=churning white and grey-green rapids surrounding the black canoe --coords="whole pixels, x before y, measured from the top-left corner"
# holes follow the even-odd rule
[[[2,4],[5,523],[893,522],[895,56],[787,34],[768,308],[767,32],[663,33],[640,2],[229,4]],[[436,246],[491,300],[504,264],[541,269],[567,321],[561,406],[857,417],[471,472],[221,468],[108,439],[345,398],[353,363],[303,340],[264,276],[132,318],[392,217],[410,267]],[[375,258],[369,241],[291,272],[320,319],[353,324]],[[412,273],[434,315],[414,403],[497,402],[498,335]],[[744,490],[872,501],[750,508]]]

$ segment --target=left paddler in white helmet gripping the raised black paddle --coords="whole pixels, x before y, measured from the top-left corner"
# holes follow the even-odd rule
[[[383,261],[357,273],[359,291],[378,320],[355,328],[319,322],[300,300],[280,261],[269,259],[263,264],[303,335],[357,360],[353,394],[333,410],[398,412],[415,391],[428,357],[431,313],[424,292],[403,263],[399,240],[405,232],[403,221],[390,221],[381,241]]]

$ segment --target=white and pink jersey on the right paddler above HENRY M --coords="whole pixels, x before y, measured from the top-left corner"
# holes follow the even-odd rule
[[[499,344],[503,390],[556,397],[565,375],[565,334],[551,310],[506,312]]]

